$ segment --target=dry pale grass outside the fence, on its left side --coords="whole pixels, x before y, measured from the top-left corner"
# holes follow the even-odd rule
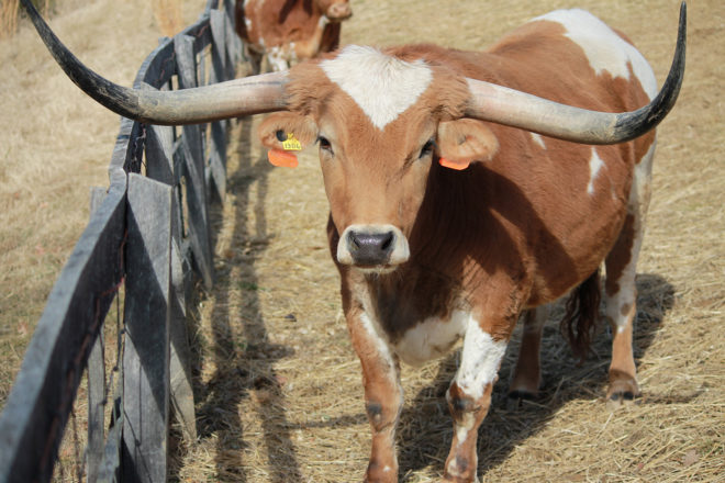
[[[187,0],[185,24],[202,0]],[[157,45],[144,0],[65,0],[51,21],[92,69],[129,86]],[[119,116],[78,91],[29,22],[0,41],[0,406],[45,299],[88,221],[89,188],[108,186]]]

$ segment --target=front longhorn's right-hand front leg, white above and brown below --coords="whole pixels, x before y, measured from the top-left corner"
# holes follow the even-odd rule
[[[476,439],[478,428],[491,404],[506,340],[494,339],[475,318],[470,318],[464,339],[460,367],[446,398],[454,419],[454,437],[446,460],[444,481],[478,481]]]

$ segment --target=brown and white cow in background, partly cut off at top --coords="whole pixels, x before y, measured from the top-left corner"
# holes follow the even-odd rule
[[[266,55],[272,70],[332,52],[339,45],[348,0],[237,0],[236,32],[246,44],[254,72]]]

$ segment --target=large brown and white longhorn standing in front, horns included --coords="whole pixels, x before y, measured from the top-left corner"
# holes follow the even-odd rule
[[[683,4],[659,94],[642,54],[582,10],[536,18],[483,53],[347,46],[289,74],[177,92],[125,89],[65,53],[56,58],[99,102],[142,122],[281,111],[260,125],[270,159],[319,144],[330,247],[372,428],[366,481],[398,480],[400,361],[417,364],[462,340],[443,479],[471,482],[516,321],[525,314],[510,391],[531,396],[547,306],[573,293],[582,317],[565,332],[583,353],[602,263],[614,334],[607,395],[621,403],[639,393],[632,332],[651,130],[677,99],[684,31]]]

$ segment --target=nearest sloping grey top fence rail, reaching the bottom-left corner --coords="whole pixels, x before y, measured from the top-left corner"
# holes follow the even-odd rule
[[[123,190],[111,190],[48,296],[0,416],[2,482],[53,474],[82,370],[121,280],[124,214]]]

